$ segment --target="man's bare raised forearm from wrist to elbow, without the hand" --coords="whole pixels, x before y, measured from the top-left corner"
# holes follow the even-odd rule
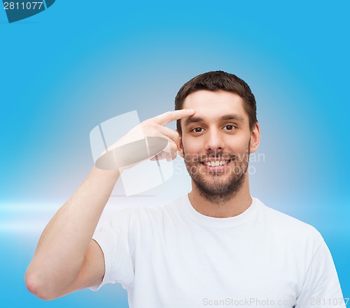
[[[48,289],[65,288],[73,281],[119,175],[116,170],[92,168],[45,227],[26,279]]]

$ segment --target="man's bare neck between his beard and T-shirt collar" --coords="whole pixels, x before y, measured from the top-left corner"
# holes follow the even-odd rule
[[[188,199],[190,199],[190,203],[197,212],[219,218],[237,216],[251,206],[253,201],[249,192],[248,176],[244,179],[244,184],[239,192],[228,201],[209,201],[200,194],[195,184],[192,184],[192,191],[188,194]]]

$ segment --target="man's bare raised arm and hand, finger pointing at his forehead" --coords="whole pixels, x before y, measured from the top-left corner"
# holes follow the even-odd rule
[[[145,136],[169,141],[169,152],[160,152],[158,159],[176,157],[179,134],[165,125],[194,113],[192,109],[166,112],[140,124]],[[130,130],[121,144],[133,142],[132,136]],[[104,255],[92,235],[119,176],[118,170],[92,168],[85,182],[52,217],[25,274],[31,293],[52,300],[102,281]]]

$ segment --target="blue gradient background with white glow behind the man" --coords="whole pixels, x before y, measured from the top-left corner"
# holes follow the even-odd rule
[[[134,109],[141,120],[171,110],[183,83],[217,69],[246,80],[258,102],[265,160],[252,163],[252,195],[323,234],[350,297],[349,8],[61,0],[13,24],[1,10],[1,307],[127,307],[118,285],[44,302],[23,276],[41,230],[92,168],[90,130]],[[189,189],[176,173],[107,207]]]

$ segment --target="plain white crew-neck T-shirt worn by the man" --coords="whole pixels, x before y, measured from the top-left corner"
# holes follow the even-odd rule
[[[127,289],[130,308],[345,307],[318,231],[253,198],[235,217],[198,213],[182,196],[127,208],[93,239],[105,283]]]

